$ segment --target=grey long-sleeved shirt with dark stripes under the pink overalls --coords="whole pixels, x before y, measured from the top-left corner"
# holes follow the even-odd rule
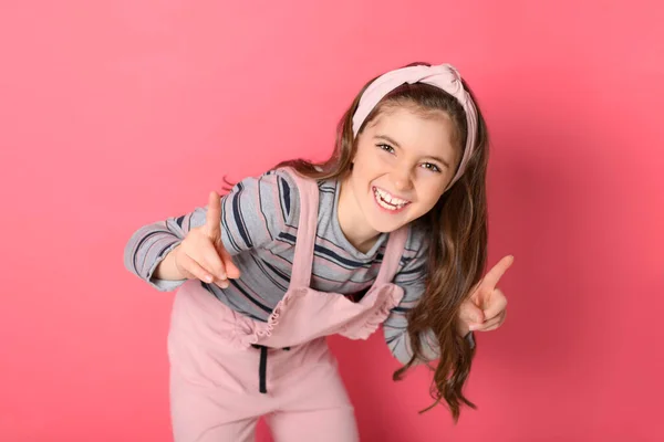
[[[336,214],[340,181],[318,181],[319,214],[311,287],[359,301],[374,283],[387,243],[382,233],[363,253],[344,236]],[[286,294],[292,270],[300,199],[298,187],[282,169],[238,182],[221,197],[221,241],[234,256],[241,276],[228,280],[228,288],[204,287],[234,311],[266,322]],[[153,276],[159,262],[177,246],[190,229],[205,224],[206,208],[168,218],[138,229],[125,248],[125,266],[158,291],[173,291],[184,281],[162,281]],[[418,302],[425,287],[426,241],[422,230],[409,229],[393,278],[404,297],[383,324],[385,340],[402,362],[411,358],[406,312]],[[427,359],[436,358],[430,337],[423,339]]]

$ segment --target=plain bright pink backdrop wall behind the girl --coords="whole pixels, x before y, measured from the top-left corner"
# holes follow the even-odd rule
[[[541,3],[3,1],[0,440],[170,440],[173,294],[125,242],[225,173],[324,158],[413,61],[456,64],[489,123],[509,318],[457,427],[417,414],[429,375],[393,383],[380,336],[333,339],[362,440],[664,440],[664,8]]]

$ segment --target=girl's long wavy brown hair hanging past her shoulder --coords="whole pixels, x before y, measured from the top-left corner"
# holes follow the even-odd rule
[[[413,63],[408,66],[418,64],[429,65],[428,63]],[[326,161],[314,164],[304,159],[294,159],[280,162],[276,168],[291,166],[299,173],[313,179],[343,179],[347,176],[356,149],[356,138],[353,136],[353,114],[357,109],[362,93],[372,82],[373,80],[362,88],[340,120],[334,152]],[[463,84],[473,96],[466,82]],[[475,101],[474,96],[473,99]],[[477,101],[475,103],[477,105]],[[445,112],[456,127],[454,141],[463,152],[467,137],[464,108],[452,95],[438,87],[423,83],[404,84],[387,94],[367,116],[359,134],[386,106],[395,105],[405,105],[426,114]],[[401,380],[417,360],[426,360],[421,337],[433,330],[440,357],[436,367],[432,367],[427,362],[427,366],[435,371],[430,389],[435,402],[423,412],[444,399],[455,422],[458,421],[461,402],[470,408],[476,408],[463,393],[476,348],[470,348],[467,340],[458,335],[457,316],[459,307],[471,287],[481,278],[487,260],[488,229],[485,180],[488,164],[488,135],[479,107],[477,114],[477,145],[466,171],[452,188],[445,191],[428,213],[415,221],[433,234],[428,244],[426,288],[419,303],[407,314],[407,332],[413,357],[394,373],[394,380]]]

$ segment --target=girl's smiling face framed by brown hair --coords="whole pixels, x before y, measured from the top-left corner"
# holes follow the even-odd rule
[[[364,240],[428,212],[454,177],[460,151],[440,112],[427,118],[407,107],[381,115],[360,135],[340,213]],[[341,214],[340,214],[341,220]]]

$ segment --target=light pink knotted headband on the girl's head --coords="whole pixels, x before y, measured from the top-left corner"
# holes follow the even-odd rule
[[[449,189],[449,187],[452,187],[452,185],[454,185],[464,173],[466,165],[475,149],[475,138],[477,136],[477,110],[475,108],[475,103],[473,103],[470,94],[464,90],[461,76],[452,64],[402,67],[377,77],[369,85],[369,87],[366,87],[366,91],[362,94],[362,98],[360,98],[357,110],[355,110],[355,114],[353,115],[353,135],[355,137],[357,136],[360,127],[362,127],[362,124],[369,114],[381,99],[404,83],[426,83],[439,87],[458,99],[466,112],[466,120],[468,124],[466,148],[464,149],[464,156],[461,157],[457,173],[447,186]]]

